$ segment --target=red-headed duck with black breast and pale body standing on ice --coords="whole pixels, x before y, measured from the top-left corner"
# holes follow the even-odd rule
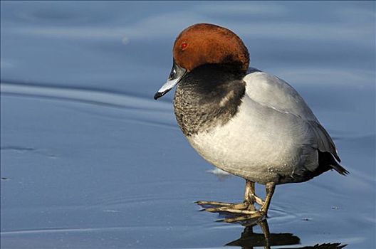
[[[340,165],[333,139],[286,81],[250,68],[249,51],[228,28],[197,23],[174,41],[173,65],[154,98],[174,92],[174,114],[189,144],[210,164],[246,180],[244,201],[197,201],[228,222],[267,217],[276,185],[300,183]],[[264,199],[255,183],[265,185]],[[255,208],[254,204],[260,208]]]

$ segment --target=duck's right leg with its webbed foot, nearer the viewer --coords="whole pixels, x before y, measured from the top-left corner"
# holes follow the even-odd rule
[[[224,219],[224,221],[237,222],[237,221],[244,221],[247,219],[263,218],[263,216],[266,216],[266,214],[268,213],[268,208],[271,203],[271,197],[274,194],[274,189],[276,189],[276,184],[274,184],[273,182],[269,182],[266,184],[265,188],[266,188],[266,198],[265,198],[265,201],[263,201],[263,204],[258,211],[249,210],[249,209],[238,210],[238,209],[226,208],[226,209],[223,209],[224,212],[239,213],[239,214],[244,214],[245,216],[240,216],[236,218],[226,218]]]

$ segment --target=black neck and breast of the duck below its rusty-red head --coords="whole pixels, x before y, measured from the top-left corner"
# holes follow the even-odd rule
[[[174,112],[187,137],[226,124],[238,112],[246,72],[237,65],[207,64],[194,68],[177,85]]]

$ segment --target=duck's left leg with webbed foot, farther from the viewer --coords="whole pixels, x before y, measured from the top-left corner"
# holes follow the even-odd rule
[[[231,210],[256,210],[254,203],[263,203],[262,199],[256,196],[254,189],[254,182],[246,180],[246,189],[244,191],[244,201],[241,203],[226,203],[218,201],[196,201],[201,206],[216,206],[215,208],[204,208],[204,211],[209,212],[226,212],[227,209]]]

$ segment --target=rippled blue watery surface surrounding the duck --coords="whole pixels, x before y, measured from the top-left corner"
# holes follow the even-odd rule
[[[351,172],[277,186],[268,227],[298,241],[273,248],[376,247],[375,2],[1,1],[1,248],[241,237],[193,202],[241,201],[244,180],[189,147],[172,93],[152,99],[174,38],[199,22],[233,30],[253,67],[293,85]]]

